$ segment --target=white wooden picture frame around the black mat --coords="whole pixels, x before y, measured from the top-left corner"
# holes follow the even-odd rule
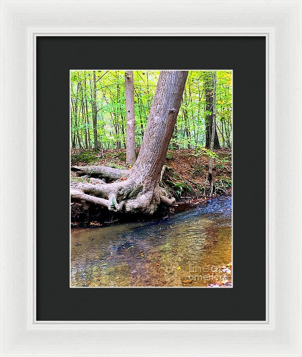
[[[301,3],[1,2],[1,355],[302,356]],[[87,35],[266,37],[266,321],[36,320],[35,40]]]

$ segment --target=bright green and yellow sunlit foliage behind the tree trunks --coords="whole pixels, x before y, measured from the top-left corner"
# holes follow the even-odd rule
[[[140,146],[152,105],[159,70],[134,70],[135,140]],[[97,132],[102,148],[123,148],[126,135],[124,70],[96,70]],[[204,146],[206,108],[205,83],[212,71],[189,71],[177,127],[170,147]],[[210,91],[210,96],[213,93]],[[72,143],[85,147],[90,136],[93,146],[93,70],[70,71],[70,113]],[[217,70],[216,121],[219,140],[231,143],[232,70]]]

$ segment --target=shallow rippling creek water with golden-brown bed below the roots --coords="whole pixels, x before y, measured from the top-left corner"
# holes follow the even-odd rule
[[[232,287],[232,198],[170,218],[71,229],[71,287]]]

